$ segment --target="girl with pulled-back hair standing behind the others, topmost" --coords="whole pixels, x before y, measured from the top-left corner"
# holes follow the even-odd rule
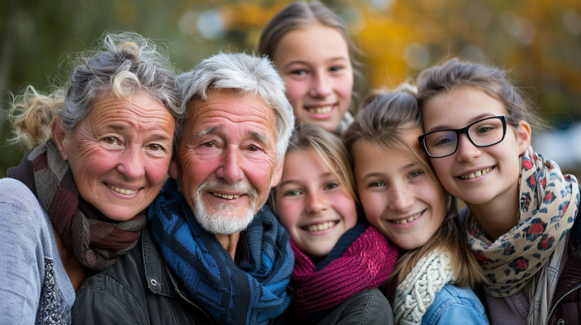
[[[296,124],[343,132],[353,89],[352,48],[345,26],[318,1],[282,8],[266,25],[258,52],[270,57],[287,83]]]

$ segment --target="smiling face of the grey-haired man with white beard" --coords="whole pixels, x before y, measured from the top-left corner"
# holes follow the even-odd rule
[[[245,229],[278,181],[274,111],[237,93],[212,89],[207,101],[192,100],[170,166],[196,219],[213,234]]]

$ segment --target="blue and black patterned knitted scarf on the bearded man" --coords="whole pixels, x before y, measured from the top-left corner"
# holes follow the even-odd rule
[[[240,267],[196,222],[173,179],[165,182],[147,217],[165,262],[219,324],[268,324],[289,305],[294,257],[289,234],[268,206],[241,234],[250,256]]]

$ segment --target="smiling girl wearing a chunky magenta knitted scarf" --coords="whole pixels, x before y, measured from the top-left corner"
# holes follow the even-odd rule
[[[271,195],[295,258],[287,318],[301,324],[393,324],[377,287],[392,272],[399,250],[364,218],[358,221],[341,139],[322,127],[299,125]]]

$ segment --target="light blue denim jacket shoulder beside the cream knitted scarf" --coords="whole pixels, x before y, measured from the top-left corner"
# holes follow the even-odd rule
[[[470,319],[471,323],[466,323]],[[427,308],[422,324],[489,324],[482,302],[469,287],[446,284]]]

